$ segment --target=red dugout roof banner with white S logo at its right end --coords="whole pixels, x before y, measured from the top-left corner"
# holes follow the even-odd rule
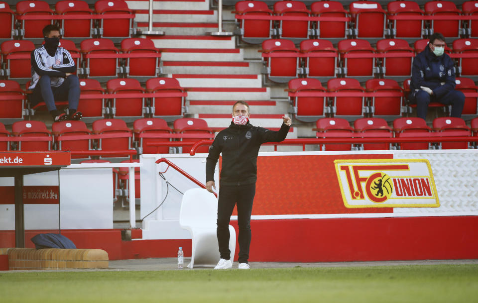
[[[69,151],[0,152],[0,168],[15,166],[67,166]]]

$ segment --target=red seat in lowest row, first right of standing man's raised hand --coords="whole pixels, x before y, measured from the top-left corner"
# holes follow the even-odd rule
[[[348,143],[327,143],[320,146],[322,151],[352,150],[354,128],[352,128],[346,119],[341,118],[322,118],[316,122],[317,138],[350,138]]]

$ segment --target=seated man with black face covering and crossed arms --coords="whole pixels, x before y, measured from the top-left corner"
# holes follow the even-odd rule
[[[67,119],[79,120],[82,113],[77,111],[80,99],[80,83],[75,61],[60,43],[60,29],[56,25],[43,28],[45,44],[31,52],[30,102],[33,105],[44,101],[55,122]],[[68,100],[69,115],[56,109],[55,100]]]

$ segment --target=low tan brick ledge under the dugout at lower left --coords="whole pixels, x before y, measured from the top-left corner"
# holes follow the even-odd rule
[[[2,248],[9,270],[108,268],[108,253],[101,249]]]

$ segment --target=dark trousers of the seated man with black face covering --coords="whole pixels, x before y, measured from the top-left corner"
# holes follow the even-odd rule
[[[68,107],[71,109],[78,109],[80,101],[80,81],[78,76],[70,75],[66,77],[65,81],[59,87],[51,87],[50,76],[43,75],[38,80],[30,97],[33,105],[45,102],[48,111],[56,109],[56,101],[68,100]]]

